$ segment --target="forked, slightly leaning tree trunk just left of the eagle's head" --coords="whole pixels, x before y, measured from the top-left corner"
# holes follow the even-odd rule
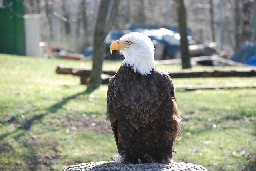
[[[93,66],[87,89],[96,89],[101,83],[102,63],[105,54],[104,40],[118,10],[119,0],[101,0],[94,30]],[[111,5],[111,6],[110,6]],[[109,6],[111,8],[109,8]],[[109,11],[109,9],[111,11]]]

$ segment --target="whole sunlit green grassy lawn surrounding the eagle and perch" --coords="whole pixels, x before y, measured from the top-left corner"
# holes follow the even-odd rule
[[[61,170],[65,165],[112,161],[116,145],[106,121],[107,85],[86,91],[59,64],[92,62],[0,54],[0,170]],[[105,61],[117,70],[120,61]],[[166,71],[180,66],[159,66]],[[195,66],[195,70],[208,67]],[[180,78],[179,84],[254,83],[256,78]],[[256,89],[176,90],[182,139],[176,162],[209,171],[256,170]]]

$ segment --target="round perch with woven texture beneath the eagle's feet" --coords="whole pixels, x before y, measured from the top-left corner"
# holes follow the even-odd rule
[[[124,164],[108,161],[82,163],[78,165],[65,166],[62,171],[208,171],[201,165],[192,163],[145,163]]]

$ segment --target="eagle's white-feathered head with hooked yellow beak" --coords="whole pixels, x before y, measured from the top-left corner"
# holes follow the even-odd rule
[[[146,75],[154,68],[154,44],[145,34],[128,33],[110,45],[111,53],[112,50],[119,50],[125,58],[122,65],[132,66],[134,72]]]

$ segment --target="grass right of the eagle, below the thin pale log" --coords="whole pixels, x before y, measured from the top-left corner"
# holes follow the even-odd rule
[[[174,160],[209,170],[254,170],[255,89],[177,92],[183,135]]]

